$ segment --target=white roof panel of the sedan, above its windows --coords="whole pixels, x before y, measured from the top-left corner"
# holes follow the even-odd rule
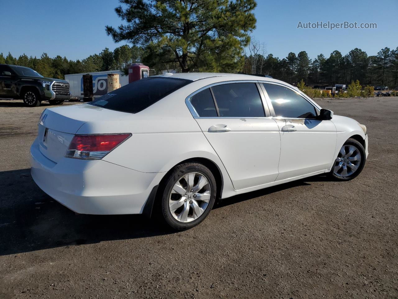
[[[176,79],[186,79],[191,81],[198,81],[201,79],[214,78],[214,77],[225,77],[226,80],[230,79],[230,77],[234,77],[234,80],[256,80],[256,81],[279,81],[269,77],[259,77],[254,75],[246,75],[246,74],[229,74],[229,73],[166,73],[163,75],[157,75],[152,77],[168,77],[168,78],[176,78]]]

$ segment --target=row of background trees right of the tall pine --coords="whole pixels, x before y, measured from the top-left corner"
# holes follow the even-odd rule
[[[335,50],[329,57],[319,54],[313,60],[306,51],[297,55],[290,52],[282,59],[273,54],[265,56],[258,53],[261,52],[261,46],[255,39],[250,42],[249,49],[250,55],[245,57],[244,73],[270,75],[291,84],[303,80],[307,85],[315,86],[348,85],[358,80],[362,85],[398,86],[398,47],[392,50],[385,47],[377,55],[368,55],[358,48],[346,55]]]

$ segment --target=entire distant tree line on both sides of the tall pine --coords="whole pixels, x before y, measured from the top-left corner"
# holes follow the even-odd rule
[[[254,44],[254,45],[253,45]],[[63,79],[66,74],[127,70],[132,63],[144,63],[153,67],[147,50],[139,46],[123,45],[114,51],[105,48],[99,54],[93,54],[82,60],[69,60],[60,55],[51,58],[43,53],[40,58],[28,57],[26,54],[18,58],[11,53],[4,56],[0,53],[0,63],[30,67],[44,77]],[[290,52],[287,57],[279,59],[273,54],[266,55],[265,45],[252,38],[248,53],[242,53],[241,68],[228,69],[234,73],[270,75],[288,83],[303,80],[307,85],[349,84],[359,80],[362,85],[382,85],[395,88],[398,86],[398,47],[390,50],[385,47],[377,55],[367,55],[365,51],[355,48],[348,54],[333,51],[329,57],[319,54],[310,59],[306,51],[297,55]],[[181,71],[177,63],[155,63],[156,73],[175,69]],[[199,71],[194,69],[193,71]],[[212,71],[201,68],[201,71]],[[221,70],[223,71],[223,70]]]

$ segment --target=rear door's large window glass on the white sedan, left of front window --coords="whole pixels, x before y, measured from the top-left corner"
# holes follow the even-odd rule
[[[226,83],[211,89],[221,117],[265,117],[256,83]]]

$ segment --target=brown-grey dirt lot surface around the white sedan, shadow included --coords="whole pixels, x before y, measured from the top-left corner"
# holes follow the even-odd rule
[[[0,298],[397,298],[398,98],[318,102],[367,126],[359,177],[226,199],[176,233],[45,195],[29,146],[49,106],[0,100]]]

